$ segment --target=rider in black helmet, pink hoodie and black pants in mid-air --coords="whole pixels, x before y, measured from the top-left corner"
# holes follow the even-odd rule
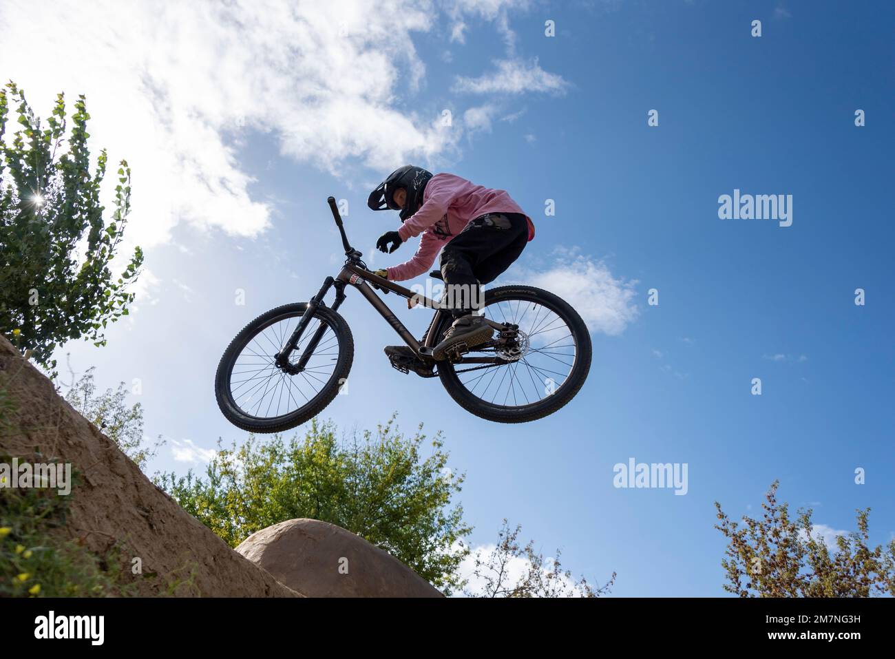
[[[444,247],[439,265],[454,322],[433,348],[432,356],[444,359],[450,348],[460,343],[471,348],[487,342],[490,325],[482,316],[473,315],[481,307],[481,286],[507,270],[533,239],[531,218],[503,190],[491,190],[453,174],[432,175],[413,165],[389,174],[370,194],[367,205],[372,210],[400,211],[401,227],[387,231],[376,242],[380,252],[394,252],[406,240],[422,234],[413,258],[376,270],[379,277],[402,281],[421,275]],[[386,355],[415,357],[406,346],[388,346]]]

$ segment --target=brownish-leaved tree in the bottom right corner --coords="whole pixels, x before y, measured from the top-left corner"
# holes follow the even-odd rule
[[[869,508],[856,511],[857,531],[838,535],[831,551],[814,529],[814,511],[800,509],[790,518],[788,504],[777,502],[778,485],[774,481],[765,495],[763,518],[744,517],[743,527],[715,501],[715,528],[729,540],[728,558],[721,560],[724,590],[740,597],[895,595],[895,540],[885,550],[867,546]]]

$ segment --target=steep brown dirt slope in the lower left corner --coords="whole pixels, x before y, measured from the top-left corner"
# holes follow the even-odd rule
[[[0,438],[0,453],[30,457],[37,447],[47,458],[72,463],[81,484],[72,492],[62,533],[82,539],[98,553],[124,543],[141,559],[144,574],[158,574],[158,579],[144,580],[144,591],[158,592],[185,581],[190,587],[184,595],[302,596],[184,512],[113,441],[59,397],[50,381],[3,337],[0,386],[15,402],[14,422],[20,429]]]

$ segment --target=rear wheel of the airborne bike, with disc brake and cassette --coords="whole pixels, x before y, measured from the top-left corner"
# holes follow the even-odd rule
[[[541,288],[507,286],[485,291],[483,314],[519,326],[519,353],[497,348],[468,356],[503,356],[508,364],[478,367],[439,362],[439,378],[451,398],[473,415],[521,424],[551,415],[584,386],[591,368],[591,336],[565,300]],[[439,337],[451,322],[443,319]]]

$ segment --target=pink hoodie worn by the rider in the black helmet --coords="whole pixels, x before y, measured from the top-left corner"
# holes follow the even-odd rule
[[[410,261],[388,269],[392,281],[412,279],[432,267],[441,248],[469,223],[485,213],[522,213],[516,201],[503,190],[476,185],[453,174],[436,174],[422,193],[422,206],[397,230],[407,241],[422,234],[420,246]],[[534,238],[532,218],[528,220],[528,239]]]

